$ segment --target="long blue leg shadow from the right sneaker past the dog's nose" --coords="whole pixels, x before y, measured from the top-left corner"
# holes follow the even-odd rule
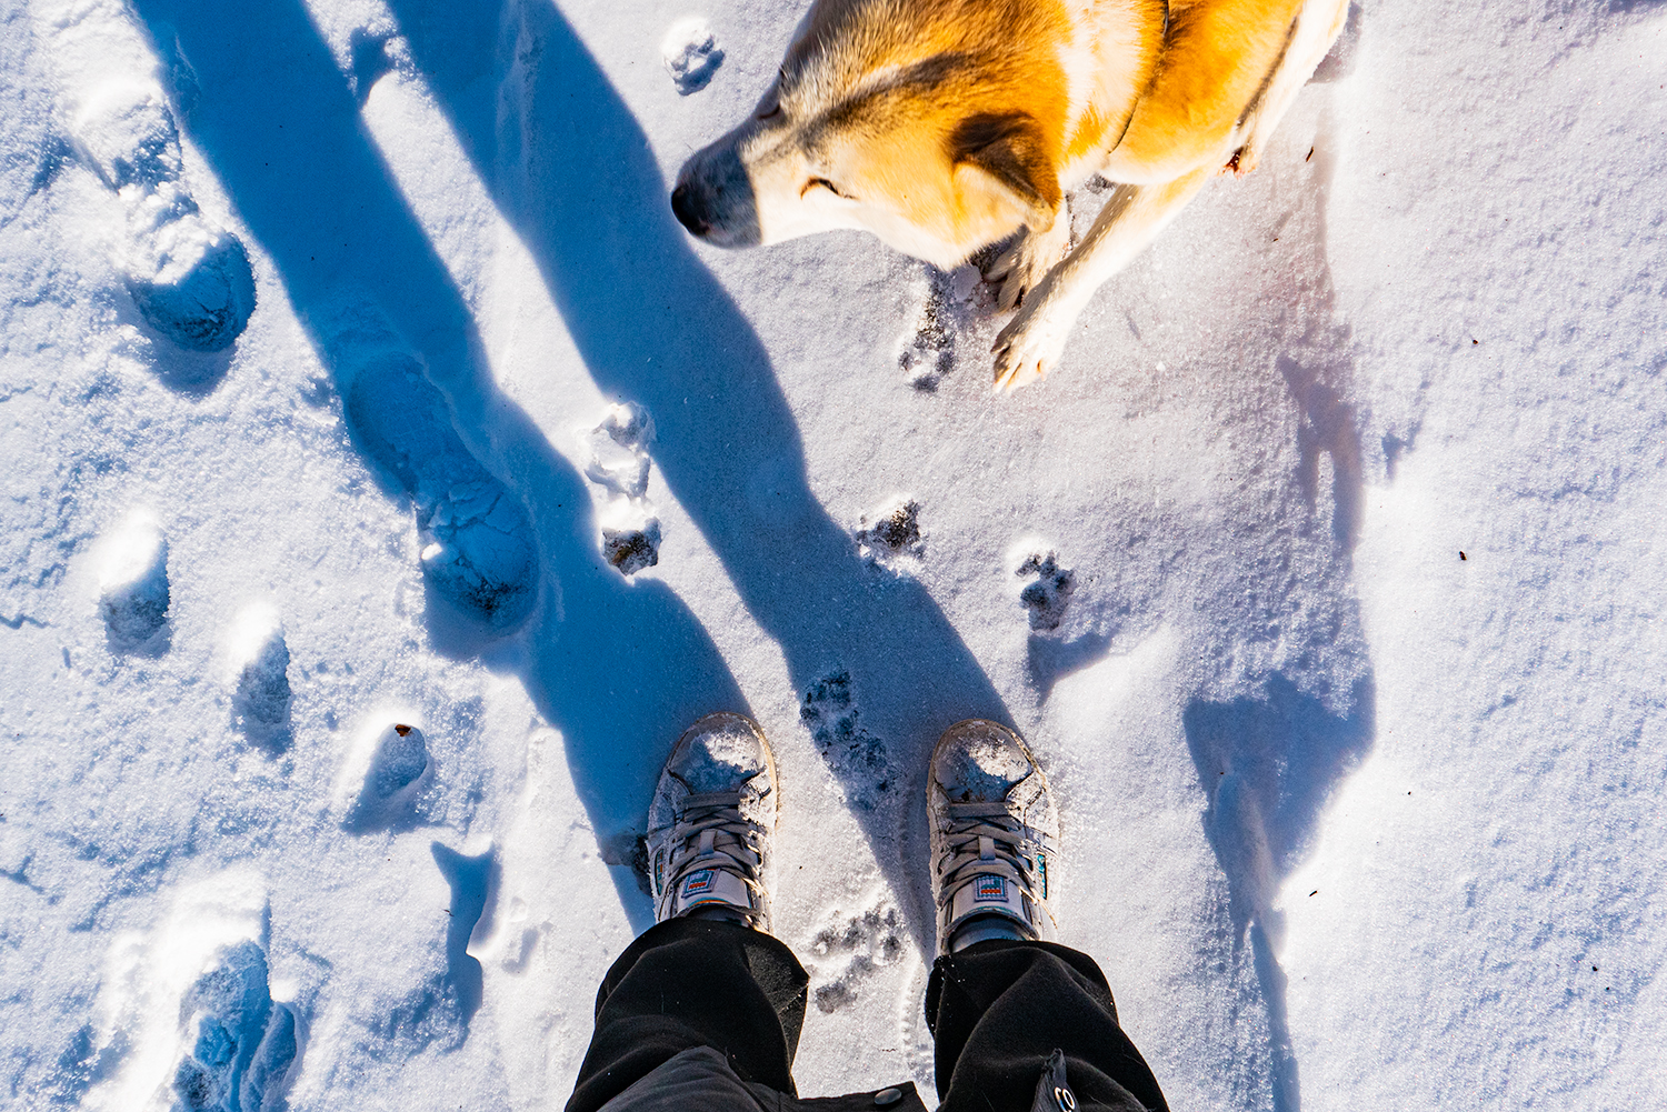
[[[768,355],[673,222],[648,137],[552,3],[390,7],[592,377],[653,415],[655,463],[782,647],[795,692],[849,674],[864,725],[905,772],[894,802],[924,820],[915,797],[939,734],[974,715],[1010,722],[1007,710],[925,589],[867,565],[810,492]],[[830,765],[850,799],[872,790],[854,765]],[[854,814],[907,894],[925,877],[892,850],[900,807]],[[915,922],[924,944],[930,929]]]

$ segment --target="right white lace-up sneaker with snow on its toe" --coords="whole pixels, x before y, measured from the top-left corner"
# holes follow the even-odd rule
[[[969,934],[1052,942],[1059,810],[1019,735],[982,719],[947,729],[932,750],[927,812],[939,950]]]

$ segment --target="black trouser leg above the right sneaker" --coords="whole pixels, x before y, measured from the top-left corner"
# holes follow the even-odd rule
[[[940,957],[927,1025],[940,1112],[1027,1112],[1055,1049],[1080,1109],[1169,1112],[1100,967],[1069,947],[992,940]]]

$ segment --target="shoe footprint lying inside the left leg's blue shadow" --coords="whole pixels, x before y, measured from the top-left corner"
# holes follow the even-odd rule
[[[468,453],[445,398],[410,352],[367,345],[353,363],[348,425],[410,497],[423,579],[452,607],[495,634],[532,610],[532,522],[508,487]]]

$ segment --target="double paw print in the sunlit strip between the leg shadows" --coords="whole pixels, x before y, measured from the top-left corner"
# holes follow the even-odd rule
[[[585,478],[600,487],[603,505],[597,512],[602,530],[602,559],[620,575],[635,575],[660,562],[660,518],[648,500],[653,462],[653,420],[635,402],[610,405],[595,428],[583,432],[588,453]]]

